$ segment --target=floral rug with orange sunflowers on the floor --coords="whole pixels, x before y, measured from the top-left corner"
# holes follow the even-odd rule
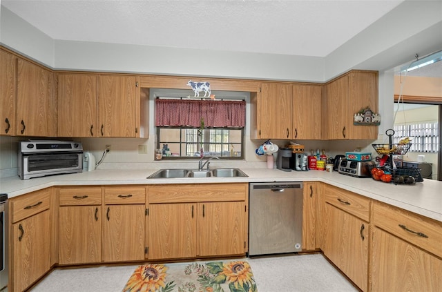
[[[123,292],[257,292],[249,262],[144,264]]]

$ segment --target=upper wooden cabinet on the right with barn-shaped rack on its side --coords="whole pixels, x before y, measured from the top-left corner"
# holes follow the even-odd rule
[[[355,126],[354,114],[378,112],[378,72],[352,71],[325,86],[323,139],[377,139],[378,126]]]

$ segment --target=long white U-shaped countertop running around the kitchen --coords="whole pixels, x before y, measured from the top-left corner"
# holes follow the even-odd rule
[[[280,171],[267,168],[240,168],[249,177],[204,177],[146,179],[157,169],[97,170],[93,172],[55,175],[21,180],[19,177],[0,179],[0,193],[16,197],[50,186],[112,185],[112,184],[185,184],[216,182],[325,182],[391,204],[442,222],[442,182],[424,179],[414,185],[395,185],[371,178],[356,178],[325,171]]]

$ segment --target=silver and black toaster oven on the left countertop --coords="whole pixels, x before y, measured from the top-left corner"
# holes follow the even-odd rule
[[[70,141],[19,143],[19,177],[30,179],[83,171],[83,146]]]

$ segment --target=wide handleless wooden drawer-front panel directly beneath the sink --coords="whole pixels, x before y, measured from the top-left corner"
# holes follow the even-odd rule
[[[249,184],[164,184],[148,186],[149,203],[245,201]]]

